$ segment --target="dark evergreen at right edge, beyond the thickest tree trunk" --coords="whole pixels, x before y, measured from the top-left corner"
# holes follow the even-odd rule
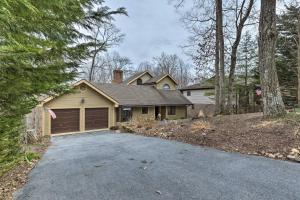
[[[278,16],[277,70],[286,104],[300,103],[300,86],[298,79],[297,58],[299,46],[298,26],[300,23],[300,6],[286,6],[286,11]],[[300,66],[299,66],[300,67]],[[298,91],[298,95],[297,95]],[[297,97],[298,96],[298,97]]]

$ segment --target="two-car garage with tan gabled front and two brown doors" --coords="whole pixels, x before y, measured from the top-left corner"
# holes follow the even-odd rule
[[[74,92],[49,99],[42,106],[44,135],[102,130],[116,123],[117,102],[86,82],[78,83]]]

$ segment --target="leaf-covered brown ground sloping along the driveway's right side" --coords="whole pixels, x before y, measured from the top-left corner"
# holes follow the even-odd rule
[[[297,121],[298,120],[298,121]],[[170,122],[137,122],[123,128],[224,151],[300,161],[300,115],[263,119],[261,113]]]

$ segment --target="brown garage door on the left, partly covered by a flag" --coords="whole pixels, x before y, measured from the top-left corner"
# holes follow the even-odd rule
[[[77,132],[79,128],[79,109],[53,109],[56,119],[51,118],[51,133]]]

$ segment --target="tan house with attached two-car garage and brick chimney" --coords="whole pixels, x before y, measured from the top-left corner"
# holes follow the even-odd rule
[[[74,92],[46,98],[35,109],[42,118],[39,134],[109,129],[130,120],[182,119],[192,105],[169,74],[156,77],[145,71],[123,81],[123,71],[115,70],[110,84],[81,80],[73,87]]]

